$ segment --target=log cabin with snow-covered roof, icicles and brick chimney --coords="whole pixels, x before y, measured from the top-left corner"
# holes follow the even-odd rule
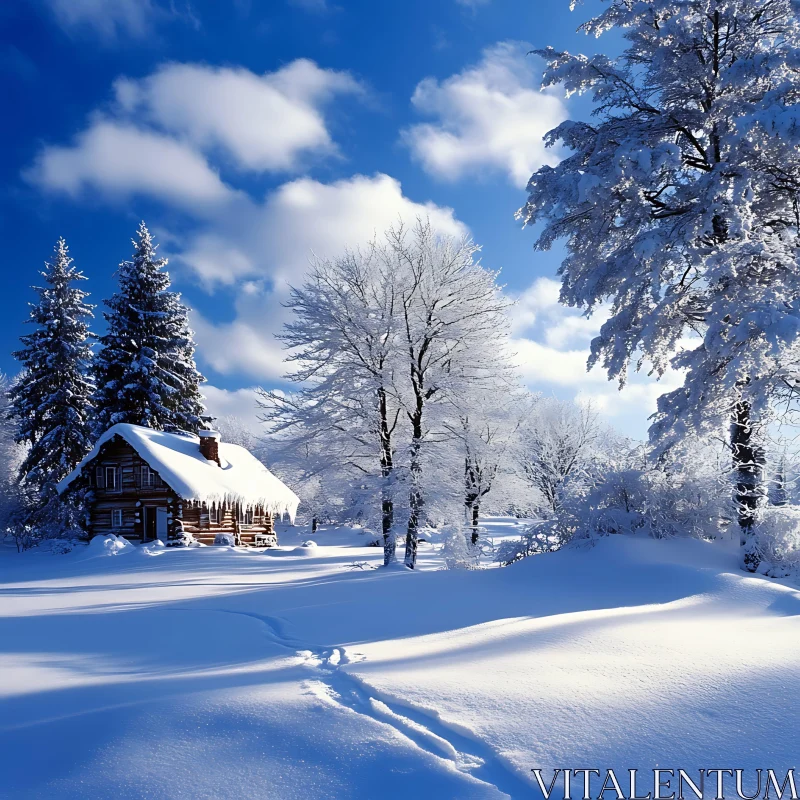
[[[213,544],[277,544],[275,519],[294,520],[297,495],[244,447],[216,431],[167,433],[119,423],[61,483],[59,494],[85,490],[90,536],[178,542],[191,534]]]

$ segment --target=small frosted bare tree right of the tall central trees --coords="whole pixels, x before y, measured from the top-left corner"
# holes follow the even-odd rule
[[[546,514],[558,512],[569,482],[587,478],[601,433],[591,404],[537,399],[519,429],[515,459]]]

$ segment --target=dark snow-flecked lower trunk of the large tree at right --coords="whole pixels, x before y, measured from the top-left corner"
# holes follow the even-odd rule
[[[731,420],[731,450],[733,452],[734,489],[733,501],[739,524],[739,544],[742,560],[749,572],[758,569],[760,557],[755,549],[753,525],[758,507],[761,465],[760,448],[753,440],[753,423],[750,404],[739,402],[733,410]]]

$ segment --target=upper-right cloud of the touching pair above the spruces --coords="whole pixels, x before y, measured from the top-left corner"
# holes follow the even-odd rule
[[[195,147],[223,150],[242,169],[294,170],[310,153],[336,151],[323,108],[337,96],[361,94],[347,72],[297,59],[276,72],[167,64],[142,80],[115,84],[124,114],[152,124]]]

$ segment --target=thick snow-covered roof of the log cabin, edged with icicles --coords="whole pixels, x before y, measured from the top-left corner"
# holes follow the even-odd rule
[[[218,505],[241,503],[262,506],[272,514],[288,514],[294,520],[297,495],[276,478],[249,450],[236,444],[219,443],[218,465],[200,452],[198,436],[165,433],[139,425],[112,425],[91,453],[56,487],[59,494],[81,474],[83,467],[100,453],[100,448],[119,436],[154,469],[161,479],[186,501]]]

